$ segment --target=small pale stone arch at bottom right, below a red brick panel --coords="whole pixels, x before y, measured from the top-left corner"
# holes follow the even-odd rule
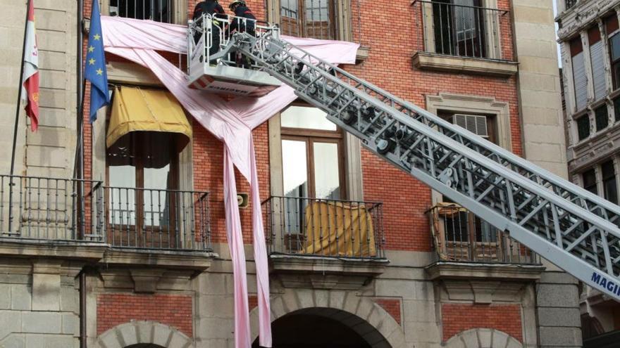
[[[452,336],[446,348],[523,348],[523,343],[500,330],[475,328]]]

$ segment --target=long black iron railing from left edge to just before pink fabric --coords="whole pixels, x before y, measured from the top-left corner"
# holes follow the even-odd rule
[[[0,238],[211,250],[206,192],[0,175]]]

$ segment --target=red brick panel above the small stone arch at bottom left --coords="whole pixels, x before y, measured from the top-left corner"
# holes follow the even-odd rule
[[[119,293],[97,296],[97,335],[132,320],[158,321],[192,337],[192,297]]]

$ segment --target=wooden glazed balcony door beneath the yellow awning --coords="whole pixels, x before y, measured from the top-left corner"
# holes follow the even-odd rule
[[[175,136],[135,131],[107,149],[109,242],[124,247],[178,245]]]

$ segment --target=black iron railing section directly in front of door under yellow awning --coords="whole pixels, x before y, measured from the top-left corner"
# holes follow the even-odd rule
[[[105,196],[114,247],[211,250],[208,193],[106,186]]]

